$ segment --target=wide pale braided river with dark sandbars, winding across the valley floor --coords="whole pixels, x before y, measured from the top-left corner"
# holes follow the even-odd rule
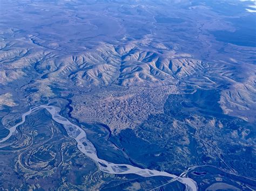
[[[186,186],[186,190],[197,190],[198,186],[195,181],[193,181],[190,178],[186,178],[183,176],[177,176],[174,174],[170,174],[167,172],[161,172],[156,171],[152,169],[143,169],[139,167],[134,167],[132,165],[126,165],[126,164],[114,164],[110,161],[106,161],[103,159],[99,159],[97,156],[97,151],[95,146],[86,138],[85,131],[80,128],[78,125],[71,123],[68,119],[66,119],[63,116],[59,115],[60,108],[54,107],[54,106],[48,106],[48,105],[37,105],[36,107],[30,108],[28,112],[25,112],[22,115],[22,121],[17,123],[16,125],[12,126],[9,129],[8,136],[0,139],[0,143],[5,142],[8,140],[16,131],[17,127],[19,125],[22,125],[26,121],[26,116],[30,115],[33,111],[37,111],[38,109],[46,109],[50,114],[54,121],[56,121],[59,124],[62,124],[65,128],[65,130],[68,132],[68,135],[75,139],[77,142],[77,148],[79,151],[84,153],[87,157],[94,160],[98,166],[99,169],[105,173],[110,174],[137,174],[143,177],[151,177],[151,176],[167,176],[170,178],[173,178],[174,180],[177,180],[181,183],[183,183]]]

